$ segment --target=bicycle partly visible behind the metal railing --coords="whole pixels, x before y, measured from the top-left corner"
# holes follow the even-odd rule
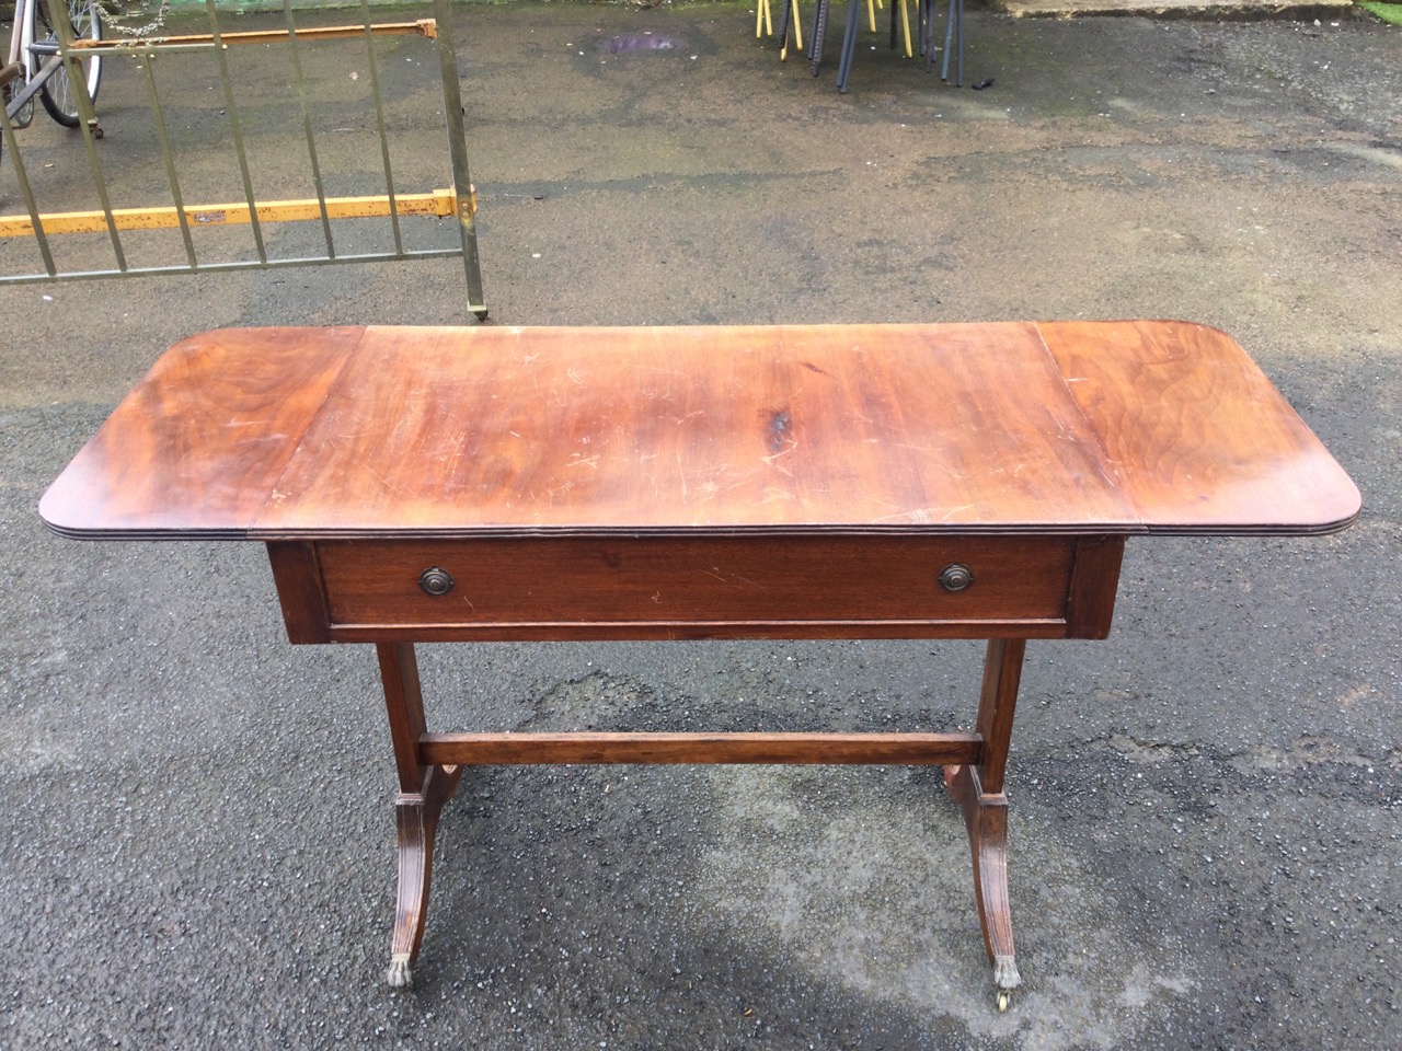
[[[34,121],[35,95],[49,116],[64,128],[77,128],[83,119],[79,90],[70,78],[72,63],[59,56],[56,13],[67,17],[70,41],[102,39],[98,0],[15,0],[10,53],[0,67],[6,114],[15,128],[28,128]],[[73,62],[81,70],[88,101],[97,102],[102,57],[94,53]]]

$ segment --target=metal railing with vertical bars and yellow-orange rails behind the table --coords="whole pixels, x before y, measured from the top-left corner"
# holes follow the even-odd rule
[[[57,7],[62,10],[62,0]],[[0,238],[32,237],[42,259],[42,272],[0,275],[0,284],[35,282],[59,282],[102,277],[136,277],[174,273],[207,273],[220,270],[271,269],[282,266],[308,266],[318,263],[367,263],[398,259],[423,259],[461,256],[467,282],[468,310],[478,318],[486,317],[482,294],[481,265],[477,251],[475,195],[467,167],[467,142],[463,121],[463,102],[458,85],[457,57],[453,46],[449,0],[433,0],[433,18],[415,22],[373,24],[367,0],[360,0],[362,24],[335,27],[299,28],[293,20],[292,0],[283,0],[285,29],[258,29],[247,32],[224,32],[220,27],[215,1],[206,0],[209,34],[198,36],[167,36],[132,41],[74,41],[72,29],[63,18],[53,20],[59,38],[57,52],[62,62],[69,63],[69,80],[77,95],[81,133],[88,170],[97,192],[98,207],[83,212],[52,212],[39,209],[29,174],[21,153],[21,139],[15,135],[14,111],[21,99],[0,111],[0,133],[10,168],[24,200],[25,214],[0,216]],[[437,71],[443,88],[444,130],[447,135],[451,185],[426,192],[401,193],[395,188],[395,172],[391,164],[391,139],[386,116],[386,102],[381,90],[381,63],[376,41],[386,35],[418,35],[432,42],[437,52]],[[315,105],[308,91],[303,71],[303,46],[308,42],[352,39],[363,41],[369,63],[369,95],[374,108],[374,130],[379,140],[379,170],[383,172],[383,193],[358,193],[334,196],[328,193],[328,179],[322,171],[318,133],[314,129]],[[301,123],[301,139],[306,146],[306,161],[314,186],[314,196],[259,200],[254,189],[254,163],[250,150],[250,132],[240,115],[238,97],[234,91],[234,77],[230,73],[229,50],[240,45],[278,45],[286,48],[292,78],[297,92],[297,114]],[[104,177],[97,140],[102,137],[94,112],[93,99],[87,97],[84,77],[79,59],[100,53],[105,60],[126,56],[140,71],[146,99],[150,108],[151,130],[158,144],[164,179],[168,184],[170,203],[139,205],[135,207],[114,207],[111,188]],[[177,150],[172,144],[171,128],[167,122],[165,105],[157,83],[157,66],[167,56],[207,55],[215,59],[219,74],[222,116],[227,118],[227,146],[231,147],[238,168],[238,191],[227,192],[234,200],[220,203],[188,203],[182,191]],[[29,92],[32,94],[32,92]],[[207,149],[207,147],[203,147]],[[451,217],[457,224],[457,238],[449,247],[409,247],[404,219],[416,216]],[[336,244],[335,224],[338,220],[387,219],[393,248],[381,251],[341,251]],[[269,252],[265,224],[269,223],[320,223],[322,247],[301,251],[293,256],[276,256]],[[200,244],[202,231],[212,227],[247,227],[250,242],[241,252],[244,258],[202,258],[207,256]],[[178,230],[184,263],[135,266],[128,261],[123,233],[137,230]],[[52,237],[64,234],[105,234],[115,261],[109,268],[63,269],[55,261]],[[224,245],[222,245],[224,247]],[[226,247],[227,254],[227,247]]]

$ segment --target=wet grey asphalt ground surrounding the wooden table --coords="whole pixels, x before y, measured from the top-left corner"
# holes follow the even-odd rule
[[[1315,540],[1131,541],[1110,638],[1029,647],[1007,1015],[956,809],[938,771],[906,768],[474,772],[444,814],[415,985],[394,992],[373,654],[289,646],[257,545],[64,541],[35,504],[175,339],[465,324],[461,268],[6,287],[0,1047],[1402,1045],[1399,31],[972,11],[970,83],[993,85],[946,87],[876,36],[845,97],[834,63],[819,81],[780,64],[744,7],[464,7],[457,34],[492,324],[1189,318],[1262,364],[1363,517]],[[377,153],[363,53],[338,48],[307,56],[334,191]],[[286,56],[245,52],[257,178],[296,196]],[[401,189],[428,188],[446,168],[430,52],[386,53]],[[164,62],[186,199],[217,195],[210,70]],[[114,63],[102,88],[119,206],[164,182],[139,76]],[[42,115],[21,135],[39,191],[86,200],[79,140]],[[8,161],[0,196],[18,209]],[[101,241],[63,251],[107,265]],[[32,245],[0,266],[34,269]],[[979,657],[422,660],[442,729],[951,729],[973,719]]]

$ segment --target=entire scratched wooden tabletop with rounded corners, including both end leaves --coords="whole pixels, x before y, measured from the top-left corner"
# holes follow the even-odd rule
[[[297,540],[1315,534],[1359,507],[1231,338],[1127,321],[222,329],[39,511]]]

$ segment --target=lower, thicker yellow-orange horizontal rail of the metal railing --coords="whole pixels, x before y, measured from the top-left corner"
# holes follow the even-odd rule
[[[475,198],[475,193],[472,195]],[[457,195],[450,189],[436,189],[432,193],[401,193],[394,199],[401,216],[453,216],[457,214]],[[475,212],[470,198],[467,214]],[[327,198],[327,214],[331,219],[377,219],[390,214],[390,198]],[[321,206],[315,198],[310,200],[268,200],[258,205],[261,223],[296,223],[321,219]],[[171,230],[179,226],[174,207],[118,207],[112,209],[112,220],[118,230]],[[229,226],[248,223],[248,205],[186,205],[185,220],[192,227]],[[105,212],[55,212],[41,214],[45,234],[105,234]],[[0,217],[0,237],[31,237],[34,223],[28,216]]]

